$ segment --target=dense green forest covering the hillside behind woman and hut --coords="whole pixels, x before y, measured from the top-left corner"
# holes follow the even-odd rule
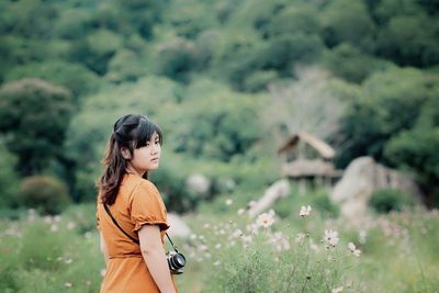
[[[173,210],[199,202],[179,188],[193,172],[217,169],[260,192],[278,176],[259,170],[277,168],[277,127],[288,124],[259,119],[268,86],[306,93],[312,83],[294,84],[312,66],[347,109],[325,137],[337,165],[373,156],[412,172],[437,204],[438,12],[428,0],[2,1],[5,157],[90,201],[113,121],[140,112],[165,131],[172,161],[164,156],[156,178]]]

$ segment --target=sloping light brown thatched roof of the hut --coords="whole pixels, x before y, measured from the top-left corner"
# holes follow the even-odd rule
[[[286,151],[290,148],[295,147],[300,140],[303,140],[304,143],[308,144],[311,147],[313,147],[315,150],[317,150],[317,153],[320,154],[320,156],[324,157],[325,159],[331,159],[331,158],[334,158],[334,156],[336,154],[334,148],[331,148],[324,140],[322,140],[308,133],[305,133],[305,132],[301,132],[301,133],[295,134],[292,137],[290,137],[290,139],[288,139],[278,149],[278,154],[281,154],[283,151]]]

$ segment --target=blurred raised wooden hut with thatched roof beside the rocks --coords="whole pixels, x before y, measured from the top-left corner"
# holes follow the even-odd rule
[[[341,176],[334,168],[335,150],[324,140],[305,132],[291,136],[278,149],[282,158],[282,176],[296,181],[301,193],[307,183],[330,188]]]

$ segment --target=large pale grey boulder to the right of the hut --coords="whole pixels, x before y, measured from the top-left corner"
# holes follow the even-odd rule
[[[372,193],[382,189],[399,190],[420,199],[419,188],[412,178],[376,164],[371,157],[354,159],[334,187],[330,198],[340,204],[342,216],[360,219],[368,211]]]

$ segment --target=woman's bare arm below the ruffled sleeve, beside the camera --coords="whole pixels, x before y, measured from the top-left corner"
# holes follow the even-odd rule
[[[146,266],[160,292],[176,293],[171,274],[166,260],[164,245],[160,239],[160,229],[157,225],[144,225],[138,230],[140,250]]]

